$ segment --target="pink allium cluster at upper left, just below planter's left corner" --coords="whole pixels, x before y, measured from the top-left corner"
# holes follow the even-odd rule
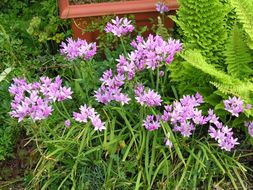
[[[60,52],[65,55],[68,60],[74,60],[82,58],[84,60],[90,60],[97,51],[96,43],[88,43],[86,40],[73,40],[67,39],[67,43],[62,42],[60,45]]]

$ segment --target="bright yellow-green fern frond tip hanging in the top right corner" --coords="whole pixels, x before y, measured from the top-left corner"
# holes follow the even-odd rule
[[[230,0],[235,7],[236,15],[243,25],[243,29],[249,36],[249,46],[253,49],[253,1],[252,0]]]

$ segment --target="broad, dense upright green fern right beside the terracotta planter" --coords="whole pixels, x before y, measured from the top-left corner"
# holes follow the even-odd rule
[[[209,63],[221,65],[227,39],[225,7],[219,0],[179,0],[180,9],[172,19],[184,35],[186,49],[199,49]]]

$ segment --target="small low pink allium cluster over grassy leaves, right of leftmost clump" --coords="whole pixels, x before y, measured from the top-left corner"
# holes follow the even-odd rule
[[[94,126],[94,130],[102,131],[105,129],[105,123],[101,121],[95,109],[85,104],[80,107],[80,113],[73,113],[73,117],[80,123],[87,123],[88,119],[90,119],[92,125]]]

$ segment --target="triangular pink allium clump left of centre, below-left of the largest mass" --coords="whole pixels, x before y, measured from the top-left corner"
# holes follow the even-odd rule
[[[116,101],[122,105],[128,104],[130,98],[127,94],[123,94],[121,86],[124,84],[124,75],[113,75],[112,70],[104,72],[100,79],[103,83],[101,87],[95,91],[95,97],[98,102],[108,104],[111,101]]]

